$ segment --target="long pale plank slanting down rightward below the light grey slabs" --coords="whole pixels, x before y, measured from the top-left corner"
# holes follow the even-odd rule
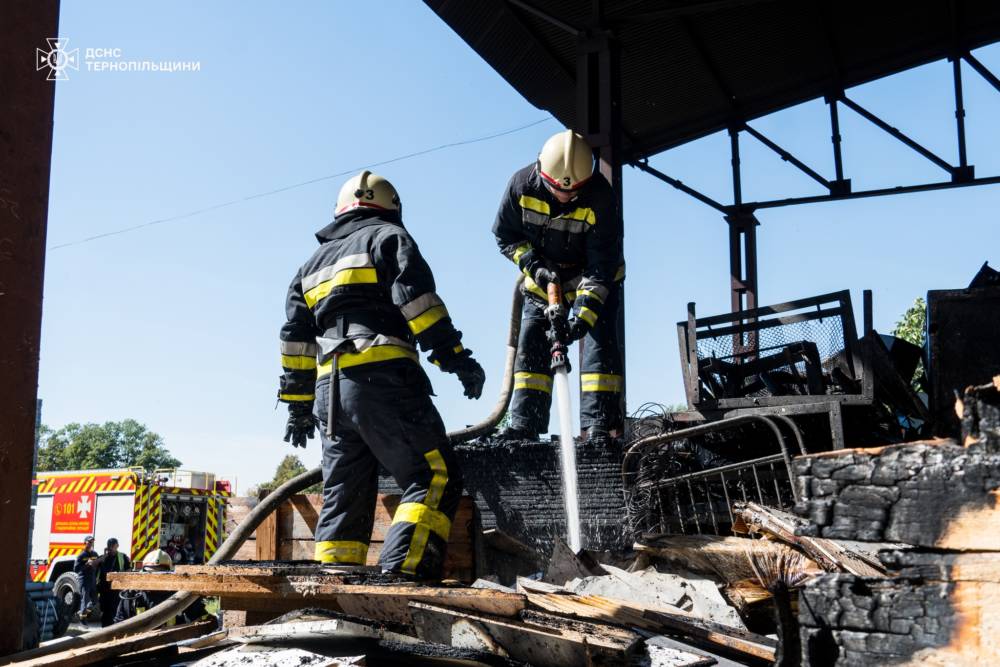
[[[529,604],[551,613],[638,627],[651,632],[676,633],[754,658],[774,661],[773,640],[677,610],[646,607],[597,595],[529,593],[527,597]]]

